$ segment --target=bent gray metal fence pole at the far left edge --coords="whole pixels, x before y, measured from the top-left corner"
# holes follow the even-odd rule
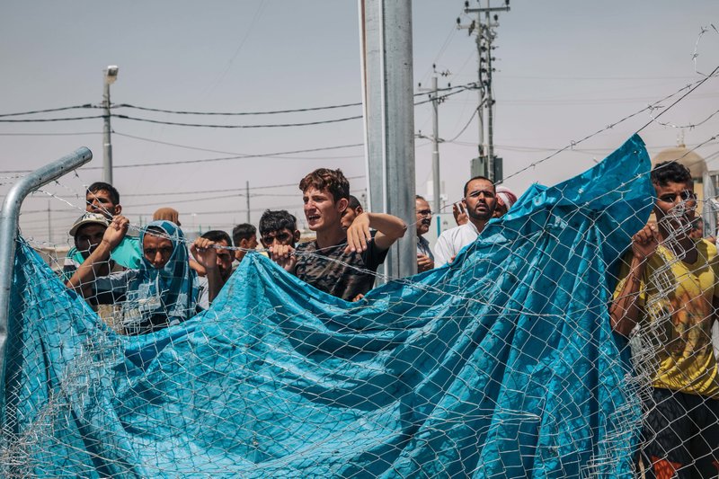
[[[13,287],[13,265],[15,239],[22,200],[42,185],[57,180],[75,168],[93,159],[93,153],[84,146],[70,155],[47,164],[28,174],[7,193],[0,212],[0,425],[4,426],[5,354],[7,350],[8,315],[10,314],[10,292]]]

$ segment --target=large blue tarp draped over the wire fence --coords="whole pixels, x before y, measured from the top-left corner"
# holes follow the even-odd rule
[[[21,242],[5,473],[629,475],[641,411],[607,269],[649,215],[649,165],[632,137],[359,303],[251,253],[208,312],[136,337]]]

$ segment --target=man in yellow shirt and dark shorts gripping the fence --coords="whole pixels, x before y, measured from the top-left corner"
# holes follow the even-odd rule
[[[719,370],[712,325],[719,306],[714,244],[689,236],[697,195],[687,167],[652,170],[656,225],[632,237],[610,307],[612,327],[638,331],[651,348],[642,457],[647,477],[719,474]]]

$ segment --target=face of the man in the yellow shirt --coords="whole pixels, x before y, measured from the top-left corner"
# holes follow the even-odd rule
[[[690,224],[697,214],[697,196],[692,183],[667,182],[665,186],[654,184],[657,200],[654,213],[657,223],[667,233],[682,231],[688,234]]]

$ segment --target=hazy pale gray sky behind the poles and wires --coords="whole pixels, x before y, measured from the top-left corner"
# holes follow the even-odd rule
[[[485,1],[483,1],[485,4]],[[497,5],[500,2],[494,2]],[[470,2],[476,6],[476,1]],[[470,19],[459,0],[413,2],[414,83],[429,86],[431,65],[450,75],[440,86],[476,79],[474,38],[457,31]],[[716,0],[537,2],[514,0],[500,14],[494,75],[495,147],[504,157],[506,184],[518,193],[531,182],[553,184],[590,167],[651,120],[646,112],[573,151],[536,167],[558,148],[674,93],[719,65]],[[4,1],[0,7],[0,114],[102,102],[102,69],[120,66],[113,103],[173,111],[258,112],[314,108],[361,101],[358,4],[341,0],[244,1]],[[710,79],[661,121],[692,125],[719,110],[717,79]],[[675,97],[677,98],[677,97]],[[418,100],[422,100],[419,98]],[[477,94],[453,95],[439,107],[441,176],[449,200],[458,200],[476,155],[476,121],[467,125]],[[671,101],[665,102],[669,106]],[[281,124],[333,120],[361,114],[357,106],[291,114],[235,117],[176,115],[135,109],[113,112],[135,118],[203,124]],[[657,111],[658,113],[659,111]],[[0,120],[96,116],[70,110]],[[114,182],[125,213],[145,220],[161,206],[181,212],[183,226],[230,229],[246,218],[250,182],[252,221],[263,208],[301,214],[298,180],[319,166],[340,167],[352,191],[364,192],[361,146],[303,154],[311,148],[363,141],[361,120],[267,129],[209,129],[112,119]],[[431,133],[431,106],[415,108],[415,130]],[[719,133],[719,115],[684,129],[695,146]],[[642,132],[651,153],[674,146],[679,129],[652,124]],[[15,173],[49,163],[78,146],[93,150],[91,164],[47,190],[67,200],[37,195],[23,207],[22,231],[65,242],[82,207],[83,185],[102,176],[102,120],[0,122],[0,192]],[[416,140],[420,194],[431,179],[431,147]],[[719,169],[717,142],[697,152]],[[262,158],[178,164],[238,155]],[[174,162],[174,163],[173,163]],[[135,164],[160,163],[153,166]],[[22,174],[22,173],[21,173]],[[511,175],[511,176],[510,176]],[[289,185],[274,187],[276,185]],[[273,187],[273,188],[264,188]],[[235,190],[235,191],[233,191]],[[192,191],[200,191],[191,193]],[[176,194],[181,193],[181,194]],[[210,213],[216,211],[217,213]]]

